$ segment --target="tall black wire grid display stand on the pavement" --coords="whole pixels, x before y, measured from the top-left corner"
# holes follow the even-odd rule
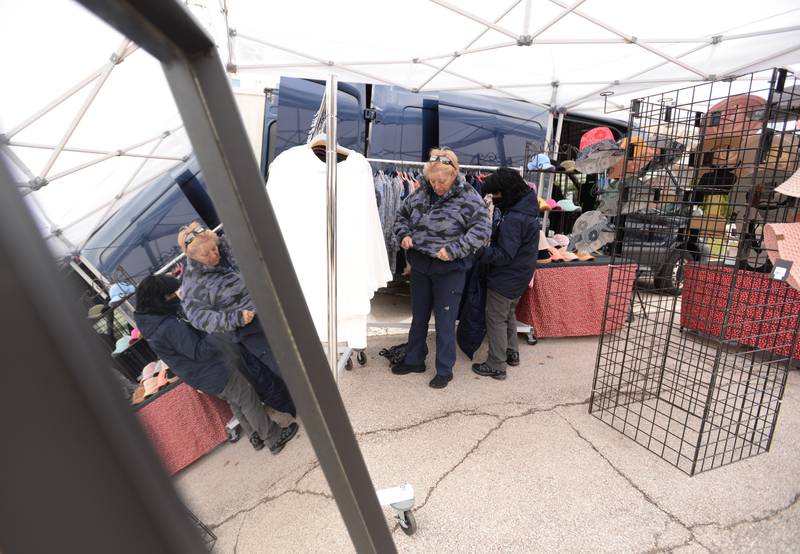
[[[612,264],[638,269],[625,304],[611,268],[590,412],[689,475],[769,450],[800,358],[800,293],[763,242],[800,221],[775,192],[798,169],[798,115],[784,70],[635,100],[609,170]]]

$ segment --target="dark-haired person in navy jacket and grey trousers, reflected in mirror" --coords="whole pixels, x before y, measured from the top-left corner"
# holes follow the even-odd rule
[[[232,362],[236,352],[226,351],[231,345],[198,331],[184,319],[179,287],[174,277],[153,275],[136,289],[135,319],[147,344],[189,386],[228,402],[254,448],[259,450],[266,443],[277,454],[297,433],[297,423],[281,428],[270,419],[253,386],[231,369],[240,363]],[[295,415],[291,404],[276,409]]]

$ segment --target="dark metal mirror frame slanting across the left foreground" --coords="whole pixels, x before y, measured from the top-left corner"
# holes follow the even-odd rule
[[[177,2],[81,0],[81,3],[162,63],[253,301],[259,313],[269,314],[261,318],[264,331],[303,417],[303,424],[353,545],[359,552],[395,552],[369,472],[281,238],[214,42]],[[81,311],[71,305],[63,287],[60,291],[56,287],[52,258],[4,167],[0,167],[0,181],[4,181],[0,182],[0,253],[7,260],[4,265],[12,268],[11,277],[25,292],[15,297],[9,290],[9,279],[0,281],[0,285],[4,285],[0,286],[3,300],[17,305],[16,310],[9,312],[14,314],[15,326],[10,338],[16,337],[16,342],[9,340],[8,328],[4,326],[4,332],[0,335],[6,347],[4,352],[10,352],[12,357],[34,353],[38,353],[39,357],[49,356],[46,364],[37,366],[42,375],[37,383],[30,383],[30,395],[9,395],[15,398],[3,403],[4,410],[17,408],[19,412],[12,411],[13,416],[5,414],[2,419],[6,424],[18,422],[19,413],[27,413],[30,414],[27,421],[32,427],[42,424],[42,428],[46,429],[44,416],[47,414],[39,411],[51,409],[51,406],[42,405],[42,397],[61,395],[63,398],[57,403],[59,405],[70,400],[69,408],[63,408],[65,413],[66,410],[80,412],[86,425],[98,427],[98,438],[94,442],[84,440],[81,448],[76,446],[73,453],[75,463],[81,462],[83,456],[90,453],[96,455],[97,460],[109,464],[104,477],[116,476],[113,481],[118,483],[117,488],[130,487],[131,496],[115,496],[113,493],[119,493],[117,490],[97,490],[91,482],[84,486],[95,496],[109,500],[109,504],[101,504],[106,510],[108,506],[115,506],[121,515],[134,522],[114,520],[113,513],[108,511],[106,517],[86,517],[83,505],[88,500],[85,495],[82,497],[73,491],[76,487],[70,486],[74,483],[69,482],[68,475],[56,471],[53,476],[60,476],[65,486],[53,486],[54,482],[52,488],[36,491],[35,485],[25,481],[31,489],[25,505],[6,504],[11,499],[19,501],[19,498],[24,498],[22,489],[14,489],[12,492],[17,494],[11,495],[6,495],[4,490],[0,495],[5,500],[0,504],[0,520],[3,521],[0,528],[16,525],[11,535],[6,533],[11,529],[3,529],[0,536],[19,537],[17,543],[12,538],[10,544],[4,542],[0,546],[15,551],[16,546],[40,541],[38,544],[42,548],[34,550],[56,551],[70,544],[82,551],[123,552],[134,549],[134,546],[136,551],[198,551],[202,548],[198,537],[192,533],[185,518],[176,515],[182,514],[183,510],[179,509],[179,500],[168,478],[159,469],[159,463],[147,446],[140,427],[134,423],[129,407],[121,398],[114,397],[116,393],[113,391],[112,376],[108,372],[94,370],[102,366],[100,353],[96,348],[90,348],[88,326],[74,324],[81,317],[78,315]],[[5,277],[7,272],[0,275]],[[4,319],[9,319],[9,315],[6,314]],[[17,335],[23,332],[30,333],[30,336],[43,336],[45,341],[38,344],[33,352],[24,343],[19,343]],[[0,373],[6,380],[9,379],[8,374],[15,372]],[[55,374],[58,374],[58,379]],[[31,375],[23,377],[30,381],[34,375],[31,372]],[[71,381],[64,384],[64,391],[45,386],[46,383],[65,379]],[[3,390],[13,390],[10,383],[6,384],[9,386],[4,386]],[[47,394],[36,390],[42,387]],[[67,393],[72,389],[80,389],[83,394],[67,398]],[[21,405],[23,403],[28,403],[25,411]],[[50,416],[52,418],[54,414]],[[47,443],[60,432],[60,424],[55,425],[52,419],[50,426],[52,434],[36,436],[48,447],[46,450],[52,450]],[[6,450],[13,452],[16,448],[16,445],[11,445]],[[26,453],[18,454],[7,456],[4,453],[3,460],[9,463],[9,467],[0,465],[0,469],[7,470],[0,471],[4,478],[17,473],[16,462],[25,459]],[[50,454],[52,457],[41,460],[40,464],[46,465],[46,462],[64,457],[63,453],[61,456],[57,452]],[[32,475],[30,477],[33,478]],[[45,481],[49,483],[50,476]],[[62,497],[68,491],[75,493],[70,500],[80,504],[80,510],[72,510],[72,513],[63,510],[66,500]],[[48,498],[58,501],[48,501]],[[116,499],[117,504],[110,503],[112,498]],[[44,513],[35,509],[32,505],[34,500],[46,507]],[[139,503],[134,503],[134,500]],[[59,507],[61,511],[57,510]],[[26,512],[22,525],[15,508]],[[48,512],[50,517],[47,516]],[[67,532],[73,542],[64,542],[64,535],[58,533],[51,535],[49,531],[52,526]],[[122,526],[132,528],[137,540],[131,539],[127,546],[108,542],[115,535],[119,538],[127,536],[119,529]],[[33,533],[38,535],[34,537]],[[106,542],[99,540],[100,535]],[[31,548],[26,550],[30,551]]]

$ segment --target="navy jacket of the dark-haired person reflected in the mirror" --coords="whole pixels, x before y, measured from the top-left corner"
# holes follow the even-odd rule
[[[147,344],[175,375],[206,394],[220,394],[228,384],[222,339],[198,331],[176,315],[136,312],[136,325]]]

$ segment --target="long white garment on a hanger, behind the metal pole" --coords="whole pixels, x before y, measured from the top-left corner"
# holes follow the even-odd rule
[[[306,145],[282,152],[269,168],[267,193],[278,217],[320,339],[328,336],[326,167]],[[339,342],[367,346],[375,291],[391,281],[372,168],[351,152],[337,165],[337,320]]]

